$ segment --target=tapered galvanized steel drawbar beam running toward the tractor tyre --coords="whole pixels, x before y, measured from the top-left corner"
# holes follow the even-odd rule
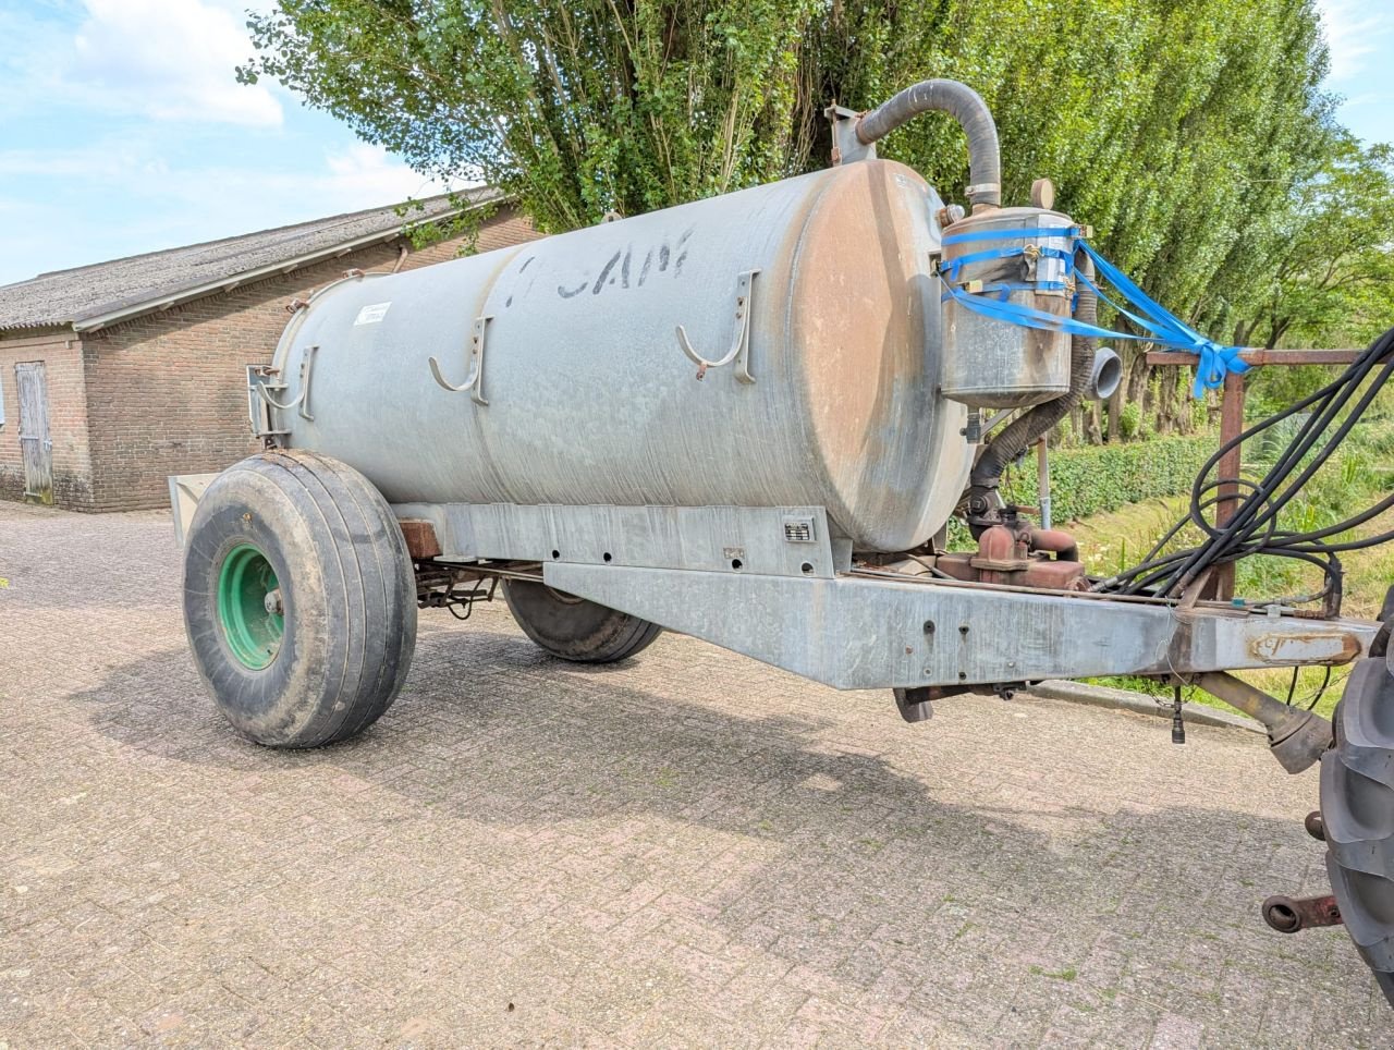
[[[1379,626],[896,573],[797,579],[576,562],[542,573],[558,590],[835,689],[1337,665],[1359,657]]]

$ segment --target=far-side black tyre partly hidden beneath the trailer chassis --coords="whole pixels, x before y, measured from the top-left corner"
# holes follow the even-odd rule
[[[652,644],[662,627],[545,583],[505,580],[503,600],[523,633],[560,660],[613,664]]]

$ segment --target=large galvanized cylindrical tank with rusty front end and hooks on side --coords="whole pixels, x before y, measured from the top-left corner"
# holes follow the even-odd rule
[[[871,160],[348,280],[282,339],[290,395],[314,357],[312,418],[275,423],[393,503],[813,505],[856,549],[906,549],[970,460],[940,393],[940,206]],[[698,379],[676,328],[717,360],[746,324],[751,381]],[[477,388],[431,357],[452,383],[482,361]]]

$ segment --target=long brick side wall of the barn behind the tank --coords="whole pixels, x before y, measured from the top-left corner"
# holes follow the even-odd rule
[[[480,231],[478,250],[533,237],[527,220],[500,212]],[[414,251],[403,269],[454,258],[460,247],[456,240]],[[270,361],[290,319],[286,304],[346,269],[392,269],[397,255],[397,244],[372,245],[85,335],[91,498],[61,505],[82,510],[167,506],[167,475],[222,470],[255,452],[245,367]]]

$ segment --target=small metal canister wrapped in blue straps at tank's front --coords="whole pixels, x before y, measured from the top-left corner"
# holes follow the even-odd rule
[[[947,279],[991,298],[1068,318],[1072,223],[1068,215],[1043,208],[970,215],[944,230]],[[1029,230],[1051,233],[1026,234]],[[1068,335],[1009,325],[955,301],[948,303],[945,318],[945,397],[1016,409],[1054,400],[1069,389]]]

